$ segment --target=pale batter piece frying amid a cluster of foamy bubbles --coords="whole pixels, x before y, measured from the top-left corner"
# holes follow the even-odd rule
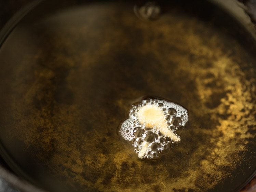
[[[157,159],[171,143],[180,141],[176,130],[183,128],[187,121],[188,111],[179,104],[147,98],[132,105],[120,133],[132,142],[139,158]]]

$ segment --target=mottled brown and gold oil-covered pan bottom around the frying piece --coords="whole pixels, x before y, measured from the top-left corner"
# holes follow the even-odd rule
[[[45,1],[0,48],[1,154],[50,191],[235,191],[255,172],[255,43],[207,2]],[[200,9],[200,6],[205,9]],[[179,143],[139,160],[118,134],[147,95],[186,107]]]

